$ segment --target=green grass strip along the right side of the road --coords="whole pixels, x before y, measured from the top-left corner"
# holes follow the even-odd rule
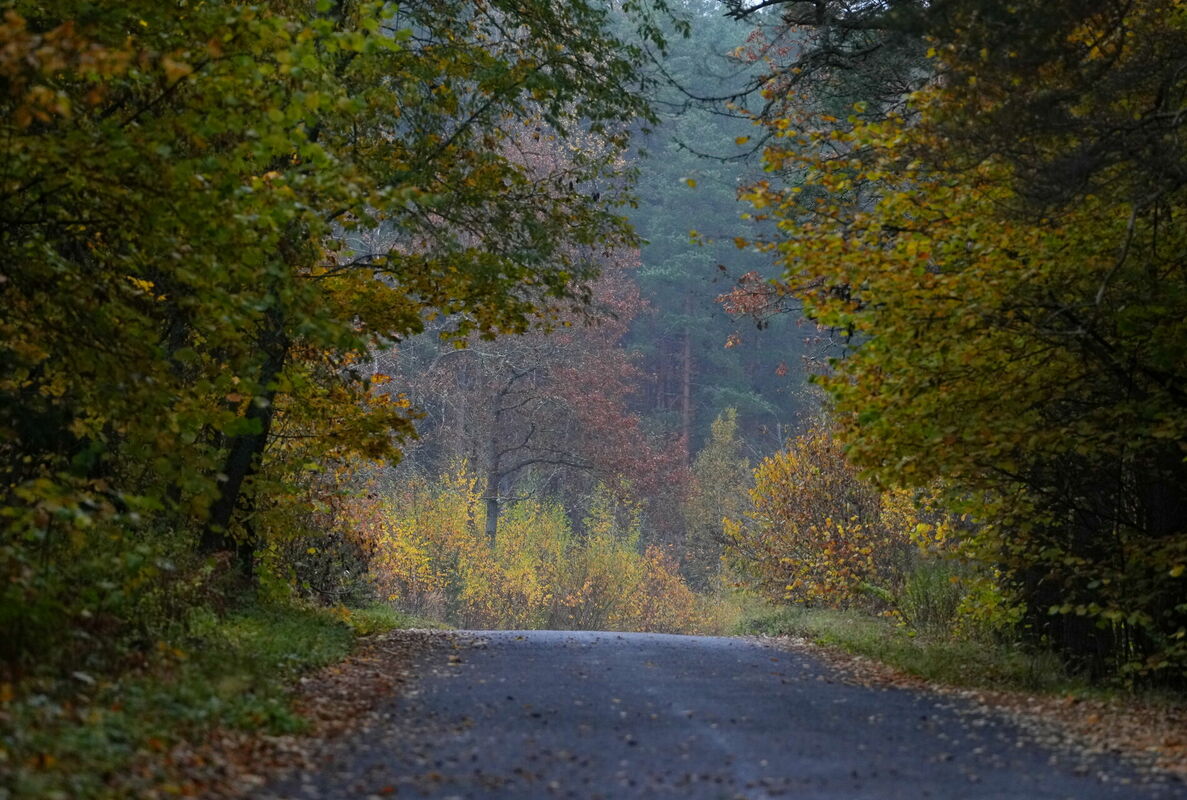
[[[858,611],[786,607],[744,620],[738,633],[802,636],[951,686],[1045,693],[1086,690],[1084,681],[1068,674],[1050,653],[991,641],[912,635],[891,620]]]

